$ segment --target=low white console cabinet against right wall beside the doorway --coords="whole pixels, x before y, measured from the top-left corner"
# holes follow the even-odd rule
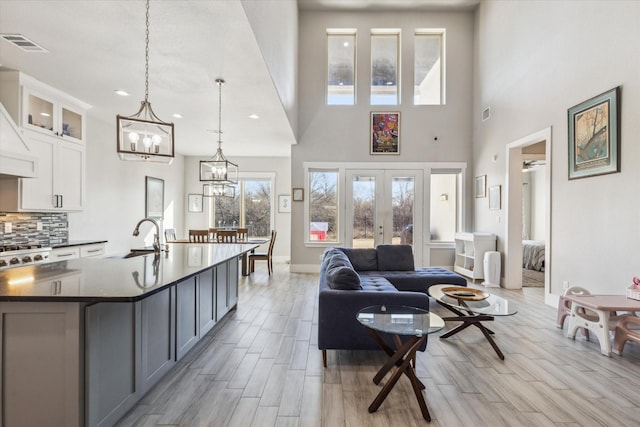
[[[456,233],[456,259],[453,270],[472,280],[484,279],[484,253],[496,250],[496,235]]]

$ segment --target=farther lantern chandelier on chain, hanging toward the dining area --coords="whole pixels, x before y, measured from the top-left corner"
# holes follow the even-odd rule
[[[222,154],[222,85],[223,79],[216,79],[218,85],[218,149],[209,160],[200,160],[200,181],[206,182],[202,188],[204,197],[235,197],[238,183],[238,165],[230,162]]]

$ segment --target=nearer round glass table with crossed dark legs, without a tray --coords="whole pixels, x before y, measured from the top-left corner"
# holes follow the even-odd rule
[[[411,381],[422,416],[425,420],[431,421],[427,404],[422,395],[425,386],[416,376],[411,361],[415,359],[416,351],[427,339],[427,335],[444,328],[444,321],[440,316],[420,308],[398,305],[366,307],[358,312],[356,318],[367,328],[380,348],[389,356],[389,360],[373,377],[373,382],[380,384],[382,378],[394,366],[396,367],[389,381],[369,405],[369,412],[378,410],[398,379],[402,374],[405,374]],[[385,341],[381,333],[389,334],[392,337],[395,349]]]

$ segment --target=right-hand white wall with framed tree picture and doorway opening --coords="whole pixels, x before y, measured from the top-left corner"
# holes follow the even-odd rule
[[[504,188],[505,146],[551,126],[553,294],[565,280],[620,294],[638,275],[639,22],[637,1],[483,1],[477,11],[475,174]],[[616,86],[622,87],[621,172],[570,181],[567,109]],[[482,122],[487,106],[491,118]],[[474,220],[476,229],[498,235],[504,251],[504,221],[478,204]]]

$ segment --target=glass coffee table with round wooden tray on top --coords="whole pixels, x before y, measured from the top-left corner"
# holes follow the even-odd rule
[[[459,289],[458,297],[455,296],[455,291],[447,290],[447,288]],[[502,297],[491,295],[484,291],[451,285],[432,285],[429,287],[429,295],[435,298],[440,305],[457,315],[455,317],[443,317],[442,319],[445,322],[462,322],[460,325],[441,335],[440,338],[449,338],[473,325],[482,331],[482,334],[487,341],[489,341],[489,344],[491,344],[491,347],[493,347],[498,357],[504,360],[504,354],[502,354],[502,351],[498,348],[498,344],[493,340],[492,335],[494,335],[494,332],[484,326],[482,322],[493,321],[496,316],[512,316],[516,314],[518,309],[515,304]]]

